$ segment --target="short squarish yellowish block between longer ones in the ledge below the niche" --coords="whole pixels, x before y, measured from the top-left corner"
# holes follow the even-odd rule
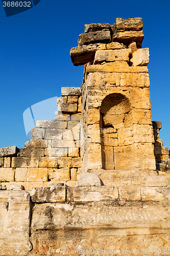
[[[120,200],[140,201],[140,188],[137,186],[119,186],[118,193]]]

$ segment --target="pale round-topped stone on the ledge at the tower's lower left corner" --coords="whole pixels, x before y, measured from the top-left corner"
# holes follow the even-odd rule
[[[101,180],[95,173],[81,173],[77,186],[101,186]]]

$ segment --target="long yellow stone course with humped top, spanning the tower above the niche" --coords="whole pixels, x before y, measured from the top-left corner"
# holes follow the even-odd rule
[[[148,68],[143,66],[129,67],[126,61],[118,61],[104,63],[103,65],[89,65],[86,67],[86,74],[90,72],[107,72],[107,73],[148,73]]]

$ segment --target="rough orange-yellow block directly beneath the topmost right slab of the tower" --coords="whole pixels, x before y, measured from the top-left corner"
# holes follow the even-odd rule
[[[143,31],[124,31],[114,33],[112,36],[112,41],[122,42],[124,45],[128,46],[131,42],[135,41],[136,46],[141,48],[144,35]]]

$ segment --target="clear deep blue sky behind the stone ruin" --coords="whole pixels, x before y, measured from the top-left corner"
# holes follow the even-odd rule
[[[6,17],[0,3],[0,147],[24,147],[23,112],[39,101],[61,96],[61,87],[80,87],[83,66],[74,67],[84,24],[113,24],[116,17],[142,17],[142,48],[150,48],[153,120],[162,121],[160,139],[170,149],[170,1],[41,0],[34,8]]]

